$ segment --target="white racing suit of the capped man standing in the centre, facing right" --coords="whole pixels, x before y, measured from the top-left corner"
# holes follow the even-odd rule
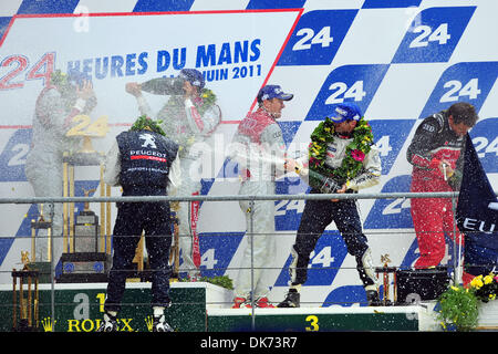
[[[230,152],[230,157],[239,164],[241,173],[239,195],[274,195],[274,179],[284,173],[284,156],[282,131],[263,108],[258,108],[242,119]],[[267,296],[271,285],[266,280],[264,269],[271,268],[276,254],[274,200],[255,200],[252,208],[249,200],[241,200],[240,208],[246,216],[248,238],[235,282],[235,295],[250,299],[253,284],[252,295],[256,301]]]

